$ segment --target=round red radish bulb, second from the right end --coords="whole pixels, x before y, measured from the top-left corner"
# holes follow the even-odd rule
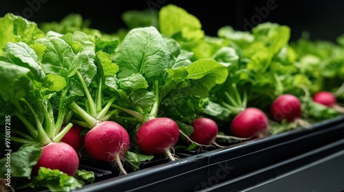
[[[301,117],[301,102],[294,95],[280,95],[272,102],[270,106],[270,117],[281,122],[286,119],[287,122],[295,121]]]

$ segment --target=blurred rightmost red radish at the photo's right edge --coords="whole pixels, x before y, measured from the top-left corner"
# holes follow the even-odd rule
[[[334,93],[328,91],[319,91],[318,93],[313,95],[312,99],[318,104],[333,108],[338,112],[344,112],[344,108],[337,104],[336,96],[334,95]]]

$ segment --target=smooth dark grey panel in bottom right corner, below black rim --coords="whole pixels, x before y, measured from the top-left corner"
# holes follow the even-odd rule
[[[344,191],[344,139],[205,191]]]

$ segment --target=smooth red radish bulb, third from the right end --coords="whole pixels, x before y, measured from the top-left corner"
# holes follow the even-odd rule
[[[268,130],[268,117],[258,108],[246,108],[230,123],[233,136],[250,138]]]

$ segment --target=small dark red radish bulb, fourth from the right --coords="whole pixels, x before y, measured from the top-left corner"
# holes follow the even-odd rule
[[[216,139],[219,128],[217,123],[210,118],[200,117],[193,121],[193,133],[189,138],[199,144],[209,145]]]

